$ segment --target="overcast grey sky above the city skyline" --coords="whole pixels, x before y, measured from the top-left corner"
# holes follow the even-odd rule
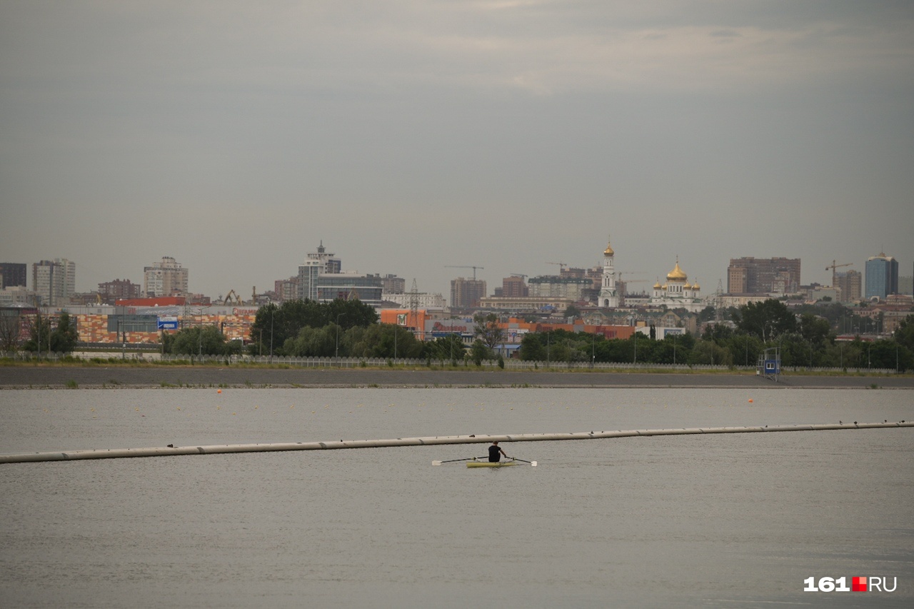
[[[914,261],[914,4],[0,2],[0,258],[213,297],[345,270]],[[846,269],[845,269],[846,270]]]

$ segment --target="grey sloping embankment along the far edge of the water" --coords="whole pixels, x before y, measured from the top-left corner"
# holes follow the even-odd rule
[[[752,374],[545,372],[430,369],[245,369],[215,367],[0,367],[0,389],[95,387],[717,387],[914,389],[914,376],[802,376],[778,382]]]

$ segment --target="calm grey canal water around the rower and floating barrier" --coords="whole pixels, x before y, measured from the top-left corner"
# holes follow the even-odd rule
[[[914,393],[3,390],[0,416],[12,454],[910,421]],[[0,605],[914,603],[910,428],[501,445],[538,466],[431,466],[484,445],[0,465]],[[861,576],[897,585],[804,592]]]

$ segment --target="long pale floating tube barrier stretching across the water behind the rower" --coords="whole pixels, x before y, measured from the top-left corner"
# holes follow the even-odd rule
[[[685,429],[639,429],[615,432],[516,433],[509,435],[441,435],[427,438],[391,440],[339,440],[337,442],[295,442],[265,444],[215,444],[211,446],[164,446],[154,448],[113,448],[53,453],[0,454],[0,464],[38,461],[77,461],[80,459],[123,459],[144,456],[186,454],[273,453],[279,451],[323,451],[342,448],[386,448],[389,446],[430,446],[435,444],[479,444],[491,442],[555,442],[558,440],[598,440],[655,435],[696,435],[701,433],[820,432],[845,429],[884,429],[914,427],[914,422],[828,423],[818,425],[768,425],[760,427],[690,427]]]

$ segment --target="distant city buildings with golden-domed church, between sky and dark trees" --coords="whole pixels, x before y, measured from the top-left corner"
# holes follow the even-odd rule
[[[199,324],[218,325],[228,337],[249,340],[250,325],[261,306],[303,299],[358,299],[375,307],[382,322],[409,326],[423,339],[435,337],[435,328],[439,334],[465,328],[478,313],[553,322],[576,316],[593,327],[650,324],[661,328],[659,337],[664,337],[663,328],[695,331],[703,312],[771,298],[798,305],[855,306],[859,315],[880,315],[880,333],[890,332],[892,320],[912,310],[914,273],[899,275],[898,261],[884,252],[860,264],[863,272],[848,268],[857,262],[833,261],[826,267],[832,271],[831,285],[802,283],[800,259],[731,258],[726,286],[718,282],[710,289],[690,281],[687,261],[678,258],[670,261],[663,281],[658,278],[653,284],[644,277],[647,273],[617,270],[610,242],[602,260],[595,267],[555,262],[558,273],[550,275],[512,273],[491,293],[487,283],[476,278],[483,267],[446,267],[463,270],[453,273],[459,276],[451,280],[448,299],[419,292],[415,281],[407,286],[394,274],[345,271],[342,257],[327,251],[323,241],[305,255],[297,274],[276,279],[270,290],[254,288],[250,294],[192,293],[190,269],[169,256],[143,267],[142,283],[112,278],[90,293],[76,292],[77,264],[68,259],[2,262],[0,308],[7,316],[67,311],[78,318],[81,340],[102,343],[155,342],[163,318],[181,319],[183,326],[192,316]]]

